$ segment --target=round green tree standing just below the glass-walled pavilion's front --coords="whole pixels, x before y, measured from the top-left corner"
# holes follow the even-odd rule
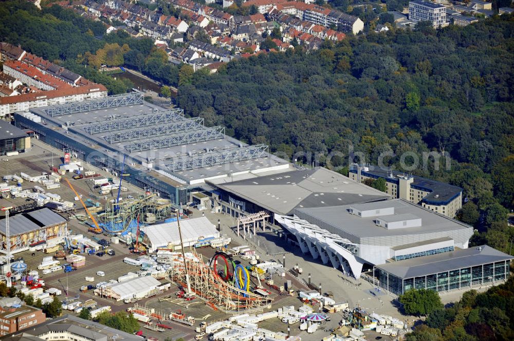
[[[398,297],[403,310],[409,315],[426,316],[443,307],[439,294],[432,290],[412,289]]]

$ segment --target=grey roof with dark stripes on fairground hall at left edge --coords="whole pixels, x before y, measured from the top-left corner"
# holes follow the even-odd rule
[[[66,222],[66,219],[59,214],[48,208],[42,208],[37,211],[9,217],[9,228],[11,235],[18,235],[64,222]],[[5,235],[5,219],[0,220],[0,233]]]

